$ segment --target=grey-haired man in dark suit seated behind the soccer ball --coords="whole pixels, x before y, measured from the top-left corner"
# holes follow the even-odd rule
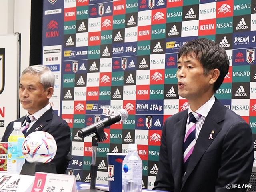
[[[55,164],[58,172],[62,161],[70,151],[71,140],[67,122],[56,115],[49,104],[54,84],[54,74],[46,66],[34,65],[26,68],[20,76],[19,98],[28,114],[14,122],[22,123],[22,132],[25,137],[35,131],[45,131],[54,137],[57,153],[50,163]],[[28,117],[30,123],[27,123]],[[10,122],[1,142],[8,142],[12,131],[13,122]]]

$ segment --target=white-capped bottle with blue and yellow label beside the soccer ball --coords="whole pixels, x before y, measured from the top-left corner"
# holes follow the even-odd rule
[[[24,134],[21,132],[21,122],[13,123],[13,131],[8,138],[7,172],[20,174],[25,158],[22,153]]]

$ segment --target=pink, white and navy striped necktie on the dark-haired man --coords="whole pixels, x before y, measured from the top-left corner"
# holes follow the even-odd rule
[[[196,143],[196,121],[200,118],[200,114],[196,112],[190,112],[188,114],[188,129],[185,134],[184,144],[183,144],[183,162],[184,162],[184,173],[187,170],[188,162],[190,160],[190,156],[194,149]]]

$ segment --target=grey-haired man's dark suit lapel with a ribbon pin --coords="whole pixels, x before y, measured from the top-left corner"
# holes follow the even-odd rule
[[[42,130],[47,124],[48,121],[52,119],[52,108],[47,110],[33,125],[32,127],[26,132],[25,136],[28,136],[30,133],[34,131]]]

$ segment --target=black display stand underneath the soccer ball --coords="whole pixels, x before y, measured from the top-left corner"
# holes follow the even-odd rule
[[[30,164],[24,163],[20,175],[35,175],[36,172],[57,173],[54,164]]]

